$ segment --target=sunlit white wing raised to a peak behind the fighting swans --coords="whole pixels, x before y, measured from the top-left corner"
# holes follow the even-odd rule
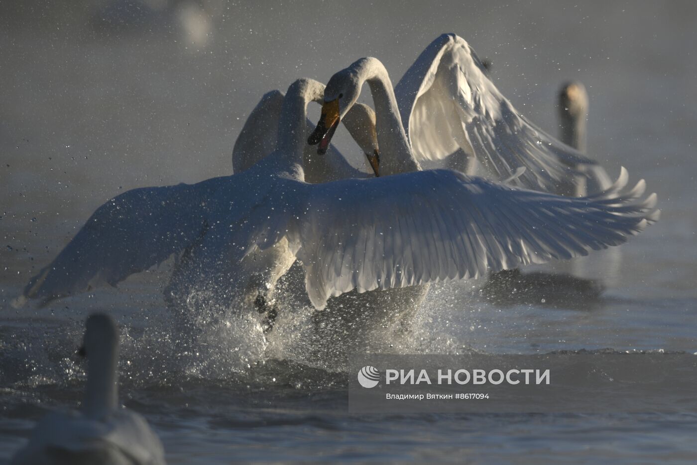
[[[585,174],[578,165],[596,164],[523,117],[489,80],[472,47],[455,34],[434,40],[395,94],[418,159],[440,160],[461,148],[500,179],[525,167],[518,184],[544,191]]]

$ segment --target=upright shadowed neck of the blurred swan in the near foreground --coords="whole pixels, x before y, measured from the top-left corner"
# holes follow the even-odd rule
[[[102,349],[102,348],[100,348]],[[95,350],[87,356],[87,388],[83,405],[84,414],[95,420],[106,418],[118,406],[118,344]]]

